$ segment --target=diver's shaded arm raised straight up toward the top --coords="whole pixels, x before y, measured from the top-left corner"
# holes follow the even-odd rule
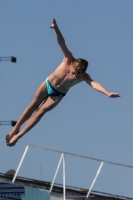
[[[60,45],[65,57],[71,58],[72,53],[68,50],[68,48],[65,44],[65,39],[64,39],[63,35],[61,34],[60,29],[58,28],[58,25],[57,25],[56,20],[54,18],[52,19],[52,24],[51,24],[50,28],[55,30],[57,42]]]

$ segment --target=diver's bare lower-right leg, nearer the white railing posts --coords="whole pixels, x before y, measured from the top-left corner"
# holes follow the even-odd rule
[[[46,101],[40,106],[37,112],[28,120],[25,127],[8,142],[9,146],[14,146],[17,140],[22,137],[25,133],[27,133],[30,129],[32,129],[42,118],[42,116],[55,108],[59,102],[62,100],[63,97],[59,96],[52,96],[48,97]]]

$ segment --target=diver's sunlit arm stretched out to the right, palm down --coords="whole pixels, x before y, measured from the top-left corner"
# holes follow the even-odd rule
[[[112,97],[112,98],[120,97],[120,94],[114,93],[114,92],[109,92],[100,83],[93,81],[87,73],[84,75],[84,80],[86,81],[87,84],[89,84],[95,90],[107,95],[109,98],[110,97]]]

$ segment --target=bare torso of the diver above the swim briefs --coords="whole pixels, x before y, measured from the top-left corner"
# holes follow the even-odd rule
[[[82,76],[75,77],[71,73],[70,67],[71,62],[65,58],[56,70],[48,77],[52,86],[59,92],[67,93],[72,86],[84,80]]]

